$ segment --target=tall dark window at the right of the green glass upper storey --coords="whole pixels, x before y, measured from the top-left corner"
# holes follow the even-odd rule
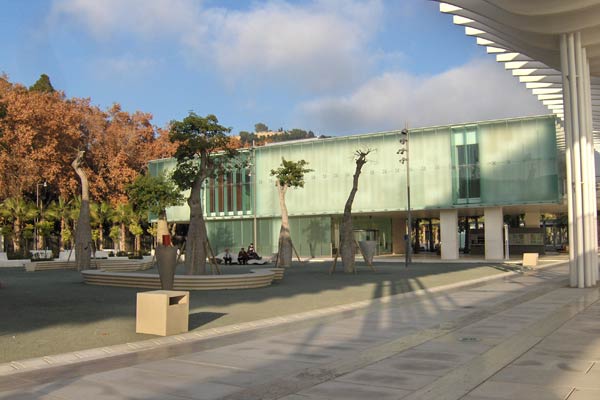
[[[481,198],[479,144],[475,127],[453,129],[455,202],[478,203]]]

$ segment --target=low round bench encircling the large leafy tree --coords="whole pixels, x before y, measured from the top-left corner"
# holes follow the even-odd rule
[[[81,271],[81,275],[83,281],[88,285],[160,289],[158,274],[119,273],[90,269]],[[252,289],[269,286],[274,280],[282,278],[283,268],[253,269],[244,274],[175,275],[173,290]]]

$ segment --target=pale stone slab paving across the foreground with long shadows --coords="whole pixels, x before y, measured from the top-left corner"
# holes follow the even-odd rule
[[[566,283],[562,265],[5,371],[0,399],[599,399],[600,292]]]

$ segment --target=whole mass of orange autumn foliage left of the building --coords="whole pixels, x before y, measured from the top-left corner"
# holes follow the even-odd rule
[[[71,163],[85,150],[80,166],[90,200],[116,207],[128,201],[126,188],[149,160],[174,152],[168,131],[153,127],[150,114],[118,104],[104,112],[89,99],[36,85],[27,89],[0,76],[0,202],[35,200],[42,182],[47,203],[74,198],[80,180]]]

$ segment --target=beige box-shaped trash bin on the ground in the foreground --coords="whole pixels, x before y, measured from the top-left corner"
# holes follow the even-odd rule
[[[137,294],[136,333],[169,336],[188,331],[190,292],[153,290]]]

